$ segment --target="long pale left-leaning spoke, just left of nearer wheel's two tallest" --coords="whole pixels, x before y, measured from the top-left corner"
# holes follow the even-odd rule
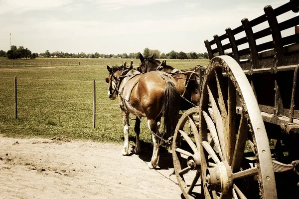
[[[208,93],[209,93],[210,102],[211,102],[211,105],[212,105],[212,110],[213,110],[214,119],[215,119],[215,123],[216,123],[216,128],[217,128],[217,132],[218,132],[219,143],[220,143],[222,151],[225,153],[226,152],[226,147],[225,147],[225,138],[224,138],[224,135],[223,135],[222,117],[221,117],[221,114],[219,112],[219,109],[217,107],[215,98],[212,94],[212,91],[211,91],[209,85],[207,85],[207,89],[208,89]],[[222,154],[222,155],[223,155],[224,160],[226,160],[226,153]]]

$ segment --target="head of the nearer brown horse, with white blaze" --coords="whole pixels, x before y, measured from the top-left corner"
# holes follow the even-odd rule
[[[106,77],[106,82],[108,83],[108,96],[111,100],[115,100],[118,95],[119,79],[124,71],[124,65],[122,66],[110,66],[107,65],[107,70],[109,71],[109,77]]]

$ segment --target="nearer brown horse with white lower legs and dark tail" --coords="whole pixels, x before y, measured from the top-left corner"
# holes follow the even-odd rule
[[[109,67],[108,95],[111,100],[118,96],[119,104],[123,117],[125,144],[122,154],[129,155],[129,114],[136,116],[135,133],[136,147],[134,152],[140,153],[140,123],[141,117],[148,119],[148,127],[152,132],[153,152],[149,168],[157,166],[159,160],[159,142],[157,136],[160,136],[157,122],[163,114],[164,128],[163,136],[167,139],[173,135],[178,121],[178,103],[179,93],[177,92],[176,82],[167,73],[161,71],[152,71],[141,74],[139,71],[126,66]],[[164,134],[166,130],[166,134]],[[154,135],[155,134],[155,135]],[[157,136],[156,136],[157,135]]]

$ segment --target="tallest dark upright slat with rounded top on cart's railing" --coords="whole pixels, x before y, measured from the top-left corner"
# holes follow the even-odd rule
[[[280,30],[278,29],[278,21],[274,14],[274,10],[271,5],[267,5],[264,8],[265,14],[268,18],[269,27],[272,32],[272,38],[274,42],[274,57],[276,58],[276,66],[282,66],[284,65],[284,48],[282,45],[282,34]]]

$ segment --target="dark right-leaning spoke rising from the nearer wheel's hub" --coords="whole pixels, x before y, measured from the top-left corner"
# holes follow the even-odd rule
[[[241,167],[241,162],[243,159],[244,149],[246,146],[248,131],[249,131],[249,127],[247,124],[247,119],[244,116],[244,112],[242,112],[236,146],[235,146],[235,151],[234,151],[234,155],[233,155],[233,161],[232,161],[232,165],[231,165],[233,172],[239,171],[239,169]]]

